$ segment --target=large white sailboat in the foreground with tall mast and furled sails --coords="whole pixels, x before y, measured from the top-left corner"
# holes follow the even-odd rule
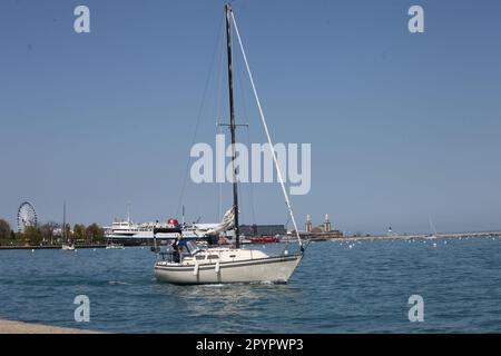
[[[226,47],[228,65],[228,89],[229,89],[229,128],[232,135],[232,168],[233,168],[233,207],[225,214],[223,221],[209,234],[220,234],[223,231],[234,231],[234,247],[200,248],[195,241],[183,239],[183,231],[179,229],[178,240],[175,244],[174,253],[161,253],[156,246],[156,234],[165,233],[163,228],[154,229],[155,251],[157,261],[155,264],[155,276],[159,281],[166,281],[179,285],[191,284],[232,284],[232,283],[287,283],[296,267],[303,259],[305,248],[298,234],[296,220],[291,207],[291,201],[285,189],[284,179],[277,162],[276,152],[273,149],[273,142],[266,125],[265,116],[261,106],[254,79],[248,66],[247,57],[244,50],[238,27],[229,3],[225,4],[226,17]],[[239,225],[238,225],[238,191],[237,172],[235,165],[235,105],[233,92],[233,51],[232,51],[232,30],[234,29],[238,39],[242,56],[245,61],[249,81],[254,91],[257,108],[266,137],[269,144],[271,155],[277,170],[277,177],[281,182],[285,202],[295,228],[298,241],[298,253],[289,254],[285,249],[278,256],[269,256],[262,250],[240,248]],[[171,233],[173,230],[169,229]]]

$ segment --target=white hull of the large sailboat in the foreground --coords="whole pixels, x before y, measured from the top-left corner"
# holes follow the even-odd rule
[[[159,281],[178,285],[288,281],[303,255],[267,257],[220,264],[179,265],[159,261]]]

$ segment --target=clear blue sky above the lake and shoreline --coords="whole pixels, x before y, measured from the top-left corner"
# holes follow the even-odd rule
[[[73,32],[78,4],[91,33]],[[223,4],[2,0],[0,217],[14,224],[23,200],[41,220],[60,220],[63,200],[72,222],[107,225],[128,202],[136,220],[175,216],[199,108],[196,142],[214,144],[217,113],[227,119]],[[422,34],[407,30],[412,4]],[[328,212],[352,233],[429,231],[429,216],[439,231],[501,229],[499,1],[234,9],[275,141],[312,144],[312,190],[293,197],[301,224]],[[264,142],[236,61],[237,119],[250,123],[238,135]],[[218,186],[187,179],[187,219],[216,220]],[[244,222],[286,221],[277,185],[240,196]]]

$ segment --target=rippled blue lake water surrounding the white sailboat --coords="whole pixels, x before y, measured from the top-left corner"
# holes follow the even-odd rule
[[[312,244],[288,285],[159,284],[148,248],[3,250],[0,318],[119,333],[501,332],[499,237],[350,244]],[[82,294],[90,323],[73,319]],[[411,295],[423,323],[409,322]]]

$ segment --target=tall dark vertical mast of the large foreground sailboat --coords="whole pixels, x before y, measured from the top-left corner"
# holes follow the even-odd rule
[[[229,129],[232,131],[232,171],[233,171],[233,209],[235,214],[235,247],[240,247],[240,231],[238,227],[238,185],[235,165],[235,102],[233,96],[233,56],[232,56],[232,6],[226,3],[226,46],[228,55],[228,89],[229,89]]]

